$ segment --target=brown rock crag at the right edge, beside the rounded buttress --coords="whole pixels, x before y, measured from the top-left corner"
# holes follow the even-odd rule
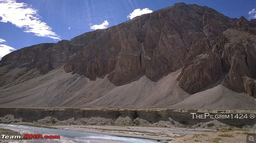
[[[223,70],[228,74],[222,85],[256,97],[256,36],[236,29],[223,32],[214,45]]]

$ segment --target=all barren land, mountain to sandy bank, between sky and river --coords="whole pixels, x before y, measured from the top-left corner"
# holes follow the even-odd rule
[[[191,113],[255,117],[255,21],[178,3],[13,51],[0,61],[0,123],[172,143],[244,142],[255,135],[254,118]]]

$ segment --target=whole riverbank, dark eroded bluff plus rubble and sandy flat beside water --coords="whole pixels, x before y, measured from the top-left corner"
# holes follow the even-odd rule
[[[255,110],[0,108],[0,123],[162,142],[197,142],[205,139],[203,142],[212,143],[226,138],[244,141],[247,132],[254,134],[256,131],[255,115]],[[222,135],[221,131],[225,129],[230,133]],[[231,136],[232,133],[236,135]]]

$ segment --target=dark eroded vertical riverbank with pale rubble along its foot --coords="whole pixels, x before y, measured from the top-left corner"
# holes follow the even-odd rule
[[[209,116],[201,118],[201,115],[204,116],[205,113]],[[254,118],[250,118],[251,114],[254,115]],[[234,127],[256,130],[255,115],[255,110],[0,107],[0,123],[4,124],[30,122],[37,124],[136,125],[205,129]],[[200,118],[196,116],[200,116]]]

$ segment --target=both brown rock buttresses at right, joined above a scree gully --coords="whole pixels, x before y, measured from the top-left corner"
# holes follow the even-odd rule
[[[238,29],[229,28],[212,42],[204,38],[191,45],[177,79],[179,86],[189,94],[198,92],[216,75],[227,72],[222,85],[256,97],[256,37],[252,28],[255,25],[244,17],[235,21]]]

